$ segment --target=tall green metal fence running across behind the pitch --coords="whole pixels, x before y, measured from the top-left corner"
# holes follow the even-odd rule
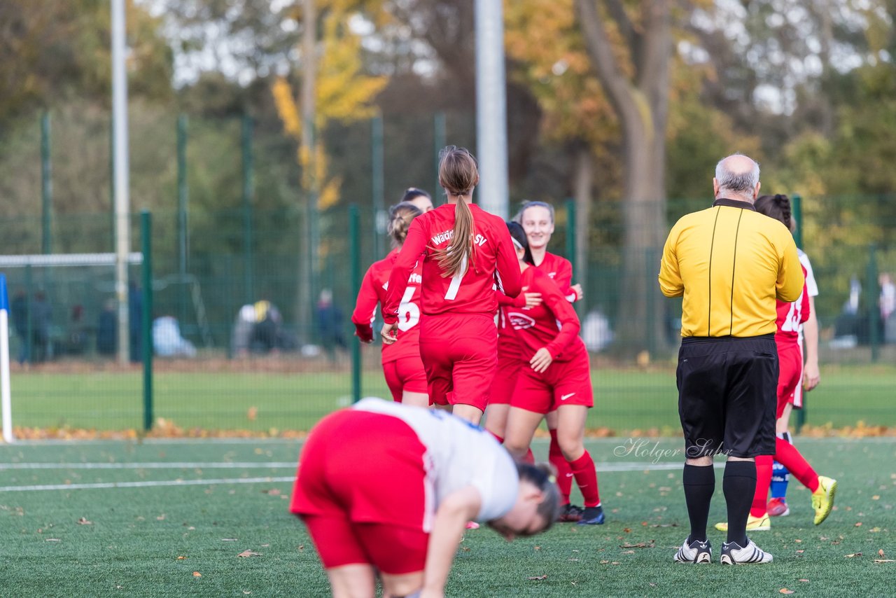
[[[77,126],[55,127],[56,118]],[[108,118],[47,120],[4,137],[0,193],[9,201],[0,209],[0,253],[111,251]],[[150,278],[140,264],[129,270],[134,363],[120,366],[114,357],[111,265],[2,266],[10,299],[24,307],[11,343],[14,423],[307,429],[360,394],[386,394],[378,344],[359,346],[349,323],[359,274],[386,247],[377,212],[406,186],[428,183],[432,190],[435,149],[446,131],[469,144],[470,118],[411,116],[401,127],[386,121],[328,132],[342,194],[319,214],[320,242],[310,264],[302,250],[307,212],[295,147],[273,134],[269,121],[145,113],[134,120],[132,247],[151,246],[152,266]],[[417,134],[405,134],[408,128]],[[896,425],[896,322],[883,320],[878,302],[879,274],[896,272],[894,199],[802,201],[800,232],[821,290],[823,383],[808,398],[810,423]],[[621,201],[591,207],[587,238],[572,234],[576,218],[584,217],[573,213],[573,203],[553,201],[551,251],[572,258],[577,244],[588,247],[574,278],[584,282],[585,299],[576,308],[593,350],[597,404],[589,426],[675,432],[680,301],[662,298],[655,283],[643,297],[625,297]],[[669,200],[663,230],[710,203]],[[512,204],[513,211],[517,198]],[[136,213],[142,208],[151,209],[151,233]],[[660,250],[642,247],[628,263],[655,281]],[[330,307],[322,301],[328,297]],[[650,322],[643,327],[650,333],[629,359],[612,339],[635,324],[620,309],[635,299],[646,302]],[[47,307],[48,319],[35,316]],[[258,321],[247,322],[251,317]],[[337,329],[324,325],[329,318]],[[147,377],[142,358],[151,341],[156,359]],[[160,354],[166,351],[178,354]]]

